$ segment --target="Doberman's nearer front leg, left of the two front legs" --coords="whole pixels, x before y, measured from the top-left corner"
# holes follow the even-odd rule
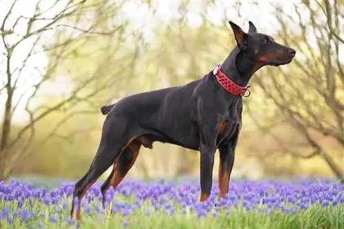
[[[213,167],[215,157],[215,146],[206,146],[204,144],[200,147],[201,153],[201,197],[200,201],[206,201],[211,195],[211,187],[213,186]]]

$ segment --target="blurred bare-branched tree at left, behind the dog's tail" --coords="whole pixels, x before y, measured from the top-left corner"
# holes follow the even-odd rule
[[[135,45],[131,43],[129,47],[125,42],[129,36],[131,41],[137,38],[131,36],[133,30],[127,18],[112,20],[120,14],[123,3],[49,3],[37,0],[30,5],[34,6],[31,12],[27,9],[24,15],[17,12],[26,8],[26,3],[13,0],[1,21],[1,78],[5,80],[0,94],[5,106],[1,111],[0,180],[7,179],[16,164],[45,144],[71,118],[99,113],[92,98],[105,94],[118,80],[116,75],[136,58]],[[103,45],[92,50],[96,42]],[[71,60],[84,65],[68,66]],[[87,61],[92,61],[92,65],[85,65]],[[116,70],[108,67],[114,63]],[[49,98],[61,78],[67,89],[55,93],[54,99]],[[47,90],[49,84],[52,86]],[[42,103],[43,99],[49,102]],[[27,116],[20,129],[14,129],[19,126],[14,123],[14,114],[19,112]],[[38,139],[37,125],[56,113],[62,115],[45,127],[45,135]]]

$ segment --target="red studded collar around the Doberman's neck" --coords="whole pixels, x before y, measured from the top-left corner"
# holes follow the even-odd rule
[[[221,85],[226,91],[228,91],[230,94],[233,94],[234,96],[244,96],[248,97],[250,96],[251,92],[248,89],[250,86],[241,87],[233,82],[233,80],[230,80],[226,74],[221,72],[221,69],[219,68],[221,65],[216,65],[215,69],[213,70],[214,76],[217,78],[217,82],[219,82],[219,85]],[[246,91],[248,91],[248,94],[246,95]]]

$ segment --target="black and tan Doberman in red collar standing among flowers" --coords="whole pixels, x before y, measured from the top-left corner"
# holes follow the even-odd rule
[[[79,204],[74,212],[73,201],[72,217],[80,219],[80,200],[111,165],[111,174],[100,188],[103,197],[109,186],[116,188],[127,175],[140,147],[151,149],[156,141],[200,151],[200,201],[211,194],[214,155],[219,149],[219,197],[226,196],[241,129],[242,96],[250,92],[248,81],[261,67],[286,65],[296,54],[258,33],[250,21],[247,33],[229,24],[237,45],[222,65],[203,78],[134,94],[101,108],[107,117],[100,144],[89,170],[75,184],[73,197],[78,197]]]

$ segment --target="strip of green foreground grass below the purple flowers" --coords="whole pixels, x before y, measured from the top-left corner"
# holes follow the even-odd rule
[[[116,197],[121,201],[126,200],[131,202],[131,199],[124,199],[123,197]],[[70,202],[70,201],[69,201]],[[95,201],[97,202],[97,201]],[[12,208],[16,208],[12,202]],[[0,209],[6,204],[0,202]],[[69,203],[70,204],[70,203]],[[51,223],[50,215],[56,211],[56,207],[62,209],[62,205],[55,205],[47,207],[39,202],[34,203],[31,208],[28,208],[28,202],[24,203],[24,207],[35,212],[45,212],[45,217],[30,218],[26,223],[21,222],[17,218],[13,225],[9,225],[6,221],[1,221],[0,228],[39,228],[39,221],[41,221],[43,228],[75,228],[68,226],[65,218],[69,215],[70,206],[68,206],[59,215],[57,223]],[[182,229],[182,228],[272,228],[272,229],[293,229],[293,228],[344,228],[344,205],[323,207],[321,205],[312,205],[307,210],[299,209],[297,213],[286,213],[281,210],[272,210],[268,216],[266,212],[259,212],[259,210],[246,211],[242,206],[238,208],[229,208],[229,214],[226,211],[220,211],[219,214],[213,217],[210,213],[206,217],[197,218],[197,213],[186,212],[182,214],[181,208],[177,208],[173,215],[164,214],[163,210],[158,212],[152,211],[151,216],[146,215],[147,209],[153,209],[151,204],[146,203],[142,208],[137,209],[131,215],[122,217],[120,213],[112,215],[89,215],[82,211],[83,218],[80,221],[80,228],[125,228],[124,223],[127,222],[127,228],[156,228],[156,229]],[[215,208],[214,208],[215,209]],[[92,212],[94,208],[92,206]]]

